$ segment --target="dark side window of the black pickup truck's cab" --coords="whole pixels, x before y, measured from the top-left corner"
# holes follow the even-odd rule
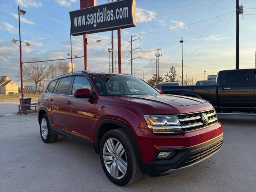
[[[248,84],[249,72],[248,71],[231,71],[226,74],[226,84]]]

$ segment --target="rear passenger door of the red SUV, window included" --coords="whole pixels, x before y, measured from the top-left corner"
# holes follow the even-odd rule
[[[52,103],[51,124],[61,130],[65,129],[66,98],[70,94],[72,80],[73,77],[61,78],[58,86],[54,88],[54,94],[50,98]]]

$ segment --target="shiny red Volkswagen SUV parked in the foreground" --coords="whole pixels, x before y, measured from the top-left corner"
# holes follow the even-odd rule
[[[222,124],[206,100],[157,92],[126,74],[71,72],[38,99],[43,142],[58,135],[94,148],[106,176],[119,186],[142,173],[192,166],[222,146]]]

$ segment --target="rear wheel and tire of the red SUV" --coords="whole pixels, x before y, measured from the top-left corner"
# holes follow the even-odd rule
[[[58,139],[58,135],[53,134],[46,114],[40,120],[40,136],[45,143],[52,143]]]

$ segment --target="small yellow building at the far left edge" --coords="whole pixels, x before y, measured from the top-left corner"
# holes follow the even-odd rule
[[[8,76],[0,78],[0,94],[18,93],[18,85],[14,81],[9,80]]]

